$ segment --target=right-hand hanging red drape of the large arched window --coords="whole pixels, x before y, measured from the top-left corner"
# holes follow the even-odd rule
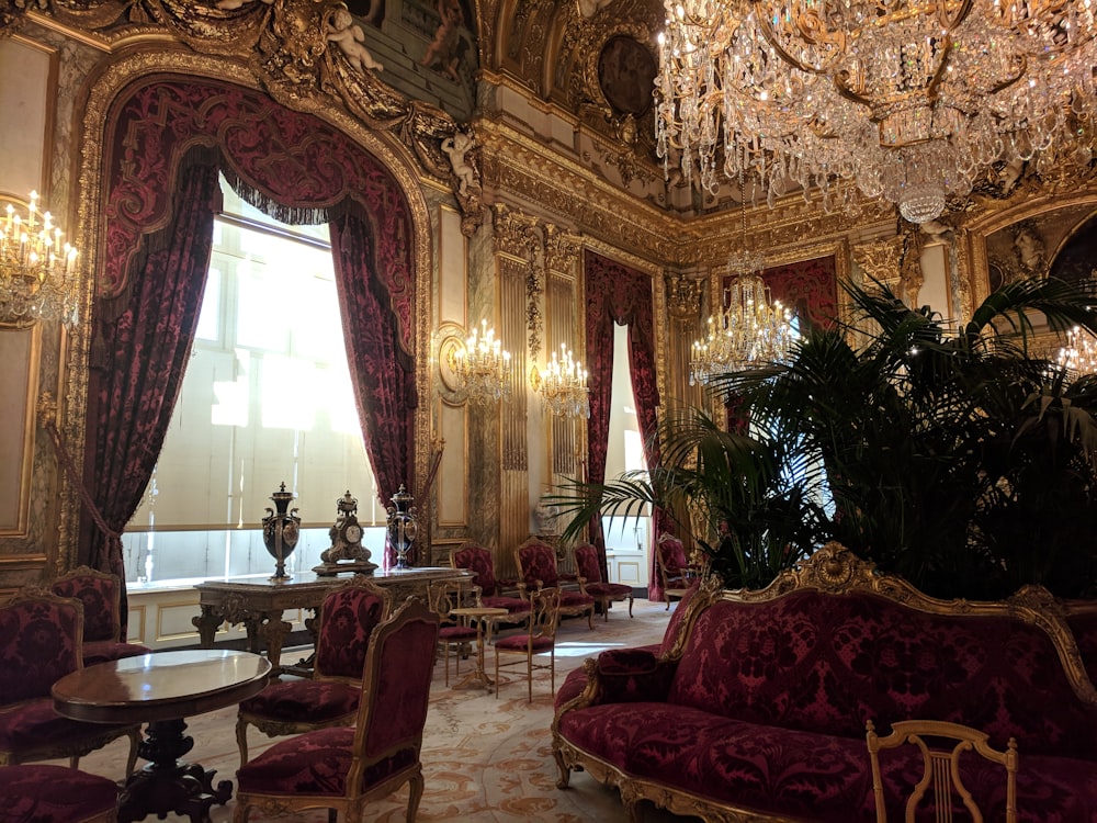
[[[365,451],[382,501],[387,504],[407,482],[408,467],[415,462],[410,414],[418,405],[415,362],[400,348],[396,316],[388,308],[388,290],[372,272],[374,244],[362,207],[350,203],[332,218],[329,228],[347,362],[354,375]],[[386,565],[392,565],[393,553],[386,543]],[[408,555],[411,565],[417,553],[412,544]]]

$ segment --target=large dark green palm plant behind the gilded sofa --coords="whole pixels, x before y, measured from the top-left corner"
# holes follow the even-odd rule
[[[652,504],[730,587],[837,540],[938,597],[1097,595],[1097,377],[1038,350],[1033,326],[1097,331],[1088,293],[1017,281],[952,328],[879,283],[847,290],[857,330],[812,329],[788,362],[711,384],[742,431],[667,415],[651,473],[559,487],[564,538]]]

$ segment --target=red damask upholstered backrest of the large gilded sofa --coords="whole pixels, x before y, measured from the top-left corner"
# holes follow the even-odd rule
[[[941,616],[875,595],[798,591],[701,613],[672,703],[861,739],[864,722],[937,718],[1004,747],[1097,759],[1097,713],[1075,697],[1050,639],[1007,617]]]

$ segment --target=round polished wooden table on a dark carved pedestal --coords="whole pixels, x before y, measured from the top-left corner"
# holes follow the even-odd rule
[[[66,675],[54,684],[54,708],[92,723],[148,723],[137,753],[149,763],[126,779],[120,823],[170,813],[207,823],[210,807],[233,796],[233,782],[214,788],[215,770],[181,759],[194,745],[183,719],[259,694],[270,672],[268,659],[250,652],[156,652]]]

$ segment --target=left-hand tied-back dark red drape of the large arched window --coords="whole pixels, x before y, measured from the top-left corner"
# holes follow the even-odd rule
[[[87,561],[123,582],[120,534],[140,504],[171,421],[202,307],[214,215],[220,211],[216,153],[192,151],[177,179],[169,223],[143,238],[124,300],[95,309],[102,334],[89,391],[88,453],[94,465],[88,486],[111,533],[87,531]]]

